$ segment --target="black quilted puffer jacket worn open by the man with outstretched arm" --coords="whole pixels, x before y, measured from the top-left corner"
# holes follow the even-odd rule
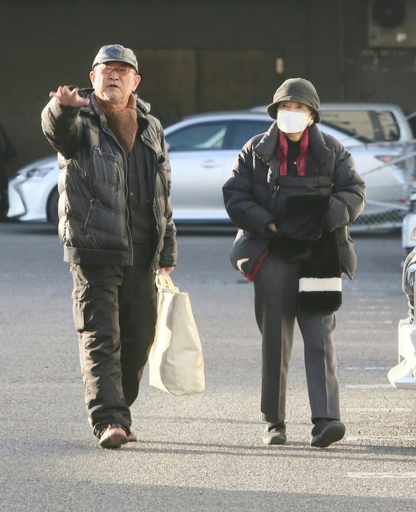
[[[133,244],[127,207],[127,159],[97,106],[93,89],[80,90],[90,103],[81,109],[56,98],[42,111],[43,133],[58,151],[59,237],[64,261],[131,265]],[[170,200],[171,168],[160,122],[137,98],[138,132],[150,148],[144,165],[151,178],[155,254],[151,270],[176,265],[176,228]]]

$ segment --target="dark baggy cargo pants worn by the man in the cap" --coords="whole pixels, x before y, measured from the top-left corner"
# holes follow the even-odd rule
[[[153,343],[156,286],[153,244],[133,244],[133,265],[71,265],[74,323],[89,423],[130,432],[129,407]]]

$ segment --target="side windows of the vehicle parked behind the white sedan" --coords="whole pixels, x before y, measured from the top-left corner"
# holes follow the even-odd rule
[[[383,110],[322,110],[322,122],[357,140],[388,142],[399,140],[400,130],[394,115]]]

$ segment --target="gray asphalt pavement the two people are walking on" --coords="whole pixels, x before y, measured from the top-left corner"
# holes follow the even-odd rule
[[[416,506],[416,393],[389,385],[407,316],[399,233],[355,236],[358,271],[337,313],[345,438],[310,441],[298,329],[286,446],[261,442],[261,337],[253,290],[229,264],[233,233],[181,232],[171,274],[188,291],[206,390],[149,387],[132,406],[138,442],[100,449],[87,424],[72,280],[54,228],[0,224],[2,512],[399,510]]]

